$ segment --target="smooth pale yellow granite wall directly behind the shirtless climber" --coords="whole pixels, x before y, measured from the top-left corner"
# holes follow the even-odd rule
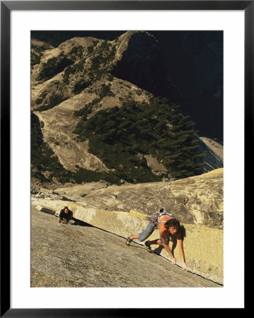
[[[35,199],[32,200],[32,206],[34,204],[37,204]],[[50,201],[49,199],[40,199],[40,204],[47,206],[48,210],[55,211],[55,216],[59,216],[59,209],[64,206],[62,201]],[[74,224],[93,225],[120,237],[127,238],[130,233],[140,233],[148,224],[148,220],[146,220],[144,215],[137,211],[129,211],[129,213],[106,211],[99,208],[84,208],[71,202],[68,203],[68,206],[73,211]],[[40,208],[40,206],[36,206],[36,208]],[[42,211],[42,209],[40,208],[39,211]],[[223,284],[224,231],[185,223],[181,223],[181,228],[188,271]],[[149,240],[158,240],[158,238],[158,229],[155,229]],[[144,245],[144,242],[134,241]],[[182,266],[177,246],[178,242],[175,237],[170,237],[169,245],[175,255],[176,264]],[[171,261],[166,249],[158,247],[158,245],[152,245],[151,247],[154,253]]]

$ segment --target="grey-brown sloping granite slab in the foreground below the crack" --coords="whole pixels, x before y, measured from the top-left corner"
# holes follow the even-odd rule
[[[138,267],[133,265],[137,262]],[[148,253],[142,245],[133,242],[128,247],[125,238],[110,232],[58,223],[57,218],[32,205],[31,287],[221,285],[183,271],[158,254]]]

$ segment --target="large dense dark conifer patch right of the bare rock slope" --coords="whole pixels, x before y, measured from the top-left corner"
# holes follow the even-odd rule
[[[89,151],[122,179],[150,182],[161,178],[151,173],[140,154],[156,156],[175,179],[200,174],[204,164],[197,158],[204,153],[198,153],[194,125],[178,105],[154,98],[151,105],[124,102],[89,119],[84,116],[74,133],[81,141],[89,139]]]

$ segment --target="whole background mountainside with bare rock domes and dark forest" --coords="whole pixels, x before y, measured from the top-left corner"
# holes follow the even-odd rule
[[[223,166],[175,102],[154,35],[32,39],[31,65],[32,178],[139,183]]]

